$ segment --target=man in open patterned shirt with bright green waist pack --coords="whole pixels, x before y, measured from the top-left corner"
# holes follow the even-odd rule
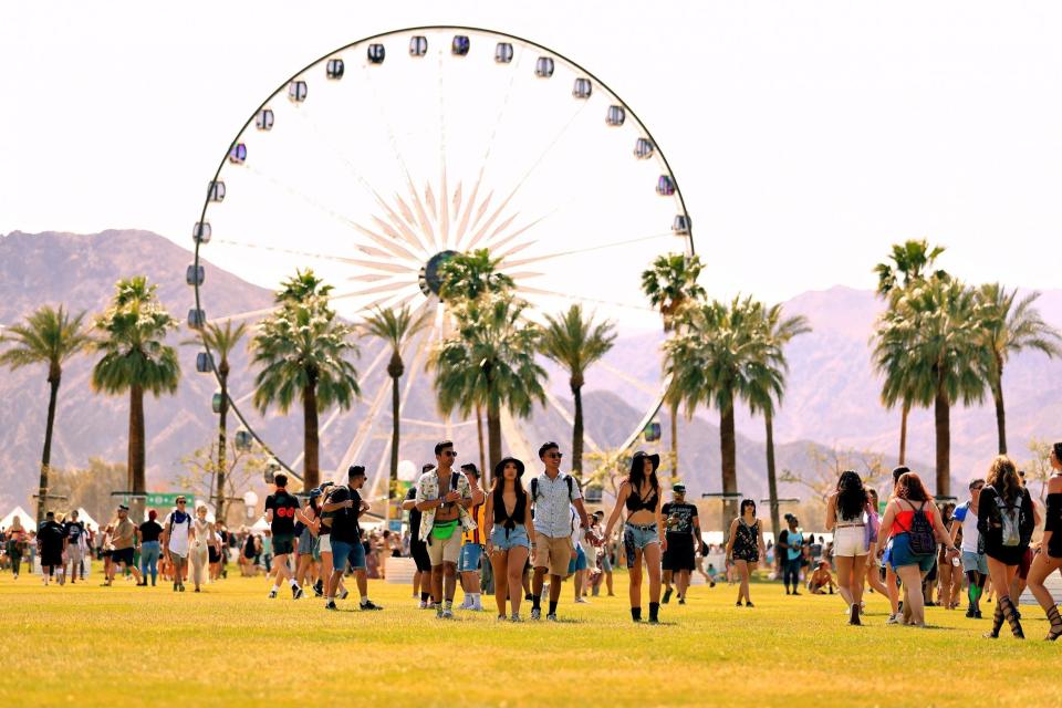
[[[476,522],[468,513],[472,504],[471,486],[465,475],[454,469],[457,459],[454,444],[442,440],[436,445],[435,459],[435,469],[417,480],[416,506],[421,513],[420,538],[428,544],[431,561],[431,600],[436,616],[449,620],[454,616],[461,534],[473,530]]]

